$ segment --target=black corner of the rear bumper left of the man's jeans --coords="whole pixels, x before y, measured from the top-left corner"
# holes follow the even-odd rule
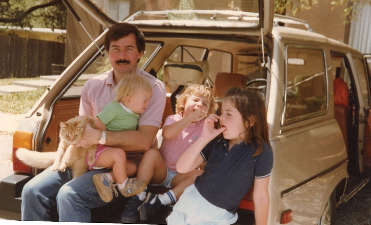
[[[12,174],[0,182],[0,209],[21,212],[23,186],[32,178],[29,175]]]

